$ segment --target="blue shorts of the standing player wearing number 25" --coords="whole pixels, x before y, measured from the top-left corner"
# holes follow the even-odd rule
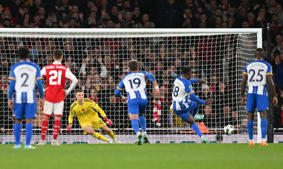
[[[268,109],[268,98],[261,94],[248,93],[246,108],[247,111],[266,111]]]

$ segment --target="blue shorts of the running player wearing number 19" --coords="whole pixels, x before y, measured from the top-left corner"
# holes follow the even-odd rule
[[[147,108],[147,99],[134,98],[128,101],[128,114],[144,114]]]

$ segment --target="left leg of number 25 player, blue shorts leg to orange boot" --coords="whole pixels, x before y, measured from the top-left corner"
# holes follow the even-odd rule
[[[248,93],[246,109],[248,111],[247,128],[249,134],[249,145],[254,145],[254,111],[256,108],[256,97],[253,93]]]

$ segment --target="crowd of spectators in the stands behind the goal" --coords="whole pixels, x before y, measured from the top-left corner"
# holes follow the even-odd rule
[[[276,0],[2,0],[1,28],[263,28],[271,23],[272,68],[278,90],[279,105],[283,100],[283,1]],[[266,32],[263,31],[266,51]],[[30,60],[42,68],[52,63],[52,51],[64,51],[63,64],[78,78],[75,89],[98,102],[114,120],[114,128],[128,128],[126,105],[115,98],[114,90],[128,73],[127,62],[137,59],[141,71],[155,75],[160,96],[152,93],[147,81],[149,106],[148,127],[185,127],[174,115],[171,104],[172,84],[184,66],[192,69],[191,78],[202,78],[207,84],[193,84],[200,99],[213,98],[211,106],[200,107],[203,123],[208,128],[231,124],[245,128],[246,113],[237,108],[239,92],[236,63],[237,35],[156,37],[156,38],[0,38],[0,128],[9,122],[7,76],[12,64],[19,61],[17,49],[27,46]],[[252,43],[252,42],[251,42]],[[70,82],[67,82],[67,86]],[[152,93],[152,94],[150,94]],[[126,93],[125,93],[126,94]],[[4,100],[3,100],[4,99]],[[74,91],[65,101],[65,114],[75,101]],[[279,111],[279,110],[278,110]],[[282,110],[283,112],[283,110]],[[280,112],[279,112],[280,113]],[[40,120],[42,109],[38,109]],[[282,113],[283,114],[283,113]],[[175,118],[173,118],[175,117]],[[4,119],[4,120],[3,120]],[[173,120],[175,119],[175,120]],[[67,119],[63,119],[67,123]],[[52,121],[51,121],[52,122]],[[76,128],[79,128],[78,121]],[[280,124],[282,125],[283,122]],[[279,126],[280,126],[279,125]],[[12,125],[7,125],[12,128]],[[40,127],[40,121],[35,123]],[[50,126],[52,127],[52,126]],[[246,132],[246,130],[238,130]],[[240,133],[241,133],[240,132]]]

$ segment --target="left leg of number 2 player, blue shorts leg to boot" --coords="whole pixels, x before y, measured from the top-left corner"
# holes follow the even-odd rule
[[[14,115],[15,115],[15,124],[14,124],[14,135],[16,140],[16,145],[13,147],[13,149],[19,149],[21,148],[20,138],[21,138],[21,130],[22,130],[22,117],[24,113],[24,105],[14,103]]]

